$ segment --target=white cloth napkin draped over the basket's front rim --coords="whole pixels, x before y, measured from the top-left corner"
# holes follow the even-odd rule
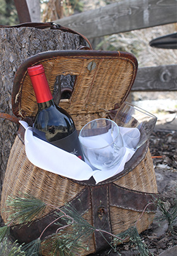
[[[109,170],[93,170],[87,163],[80,160],[75,155],[68,153],[56,146],[53,146],[42,139],[39,139],[33,135],[32,127],[28,127],[28,124],[24,121],[20,121],[20,124],[25,128],[25,151],[28,160],[35,166],[59,174],[70,179],[77,181],[84,181],[94,177],[96,184],[112,177],[124,169],[125,163],[135,153],[135,150],[126,148],[126,143],[120,150],[121,160],[119,163]],[[127,128],[126,128],[127,129]],[[130,129],[123,131],[123,138]]]

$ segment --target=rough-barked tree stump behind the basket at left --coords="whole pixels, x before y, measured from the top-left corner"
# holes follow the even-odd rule
[[[28,57],[43,52],[77,49],[85,45],[79,35],[34,27],[0,28],[0,112],[13,115],[11,91],[16,70]],[[0,118],[0,186],[2,189],[9,152],[18,127]],[[1,195],[0,189],[0,195]]]

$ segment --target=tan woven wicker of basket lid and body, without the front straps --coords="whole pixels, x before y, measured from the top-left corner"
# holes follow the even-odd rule
[[[137,60],[131,54],[100,51],[56,51],[29,58],[18,70],[13,87],[13,112],[20,117],[34,117],[37,103],[34,90],[27,75],[27,67],[42,63],[51,91],[57,75],[76,75],[75,86],[70,99],[61,100],[59,106],[66,109],[73,117],[76,129],[81,129],[90,120],[107,117],[109,110],[120,106],[133,85],[137,73]],[[123,173],[113,182],[128,191],[136,191],[141,195],[157,193],[156,177],[150,152],[145,151],[140,163],[133,163],[132,170]],[[97,185],[96,185],[97,186]],[[98,184],[99,186],[99,184]],[[107,185],[104,185],[107,186]],[[23,141],[16,136],[11,149],[3,183],[1,199],[1,215],[8,221],[8,196],[18,196],[20,192],[40,198],[46,203],[62,207],[71,202],[84,189],[90,191],[90,208],[83,212],[83,218],[94,225],[94,198],[92,186],[61,177],[46,170],[39,169],[29,162],[25,154]],[[107,187],[107,191],[109,188]],[[138,192],[139,191],[139,192]],[[109,202],[107,193],[107,202]],[[85,202],[82,202],[83,205]],[[109,209],[109,226],[113,234],[125,231],[140,218],[142,210],[117,207],[107,203]],[[53,208],[46,208],[43,216],[50,214]],[[36,216],[35,219],[38,219]],[[137,222],[138,232],[147,229],[154,219],[154,212],[147,211]],[[83,249],[81,255],[96,251],[95,235],[83,241],[89,251]],[[107,245],[108,246],[108,245]],[[43,255],[49,255],[44,250]]]

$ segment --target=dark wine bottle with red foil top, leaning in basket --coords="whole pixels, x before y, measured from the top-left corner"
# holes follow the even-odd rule
[[[34,87],[38,112],[34,121],[34,136],[43,139],[58,148],[83,158],[80,141],[71,116],[56,105],[42,65],[28,68],[28,74]]]

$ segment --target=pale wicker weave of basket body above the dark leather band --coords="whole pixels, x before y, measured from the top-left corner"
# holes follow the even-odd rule
[[[133,171],[117,179],[114,183],[135,191],[157,193],[156,177],[149,151]],[[19,196],[20,192],[28,193],[48,204],[62,207],[75,198],[85,188],[85,185],[33,165],[26,156],[25,145],[16,136],[15,143],[11,148],[3,188],[1,208],[4,209],[3,220],[7,222],[9,214],[6,200],[9,195]],[[53,208],[46,208],[42,216],[49,214],[51,210]]]

